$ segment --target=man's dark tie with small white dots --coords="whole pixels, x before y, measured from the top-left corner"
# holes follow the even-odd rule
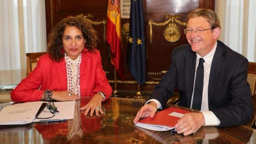
[[[199,59],[199,64],[195,75],[195,88],[193,95],[192,109],[201,110],[203,85],[204,85],[204,62],[203,58]]]

